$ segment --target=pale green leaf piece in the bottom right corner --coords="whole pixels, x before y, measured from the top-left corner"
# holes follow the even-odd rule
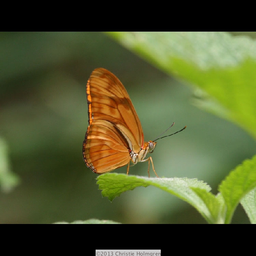
[[[241,204],[249,217],[250,222],[256,224],[256,188],[242,198]]]

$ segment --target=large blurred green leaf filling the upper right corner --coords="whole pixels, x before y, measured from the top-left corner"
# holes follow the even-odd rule
[[[200,87],[204,97],[196,101],[198,106],[256,138],[255,40],[226,32],[107,34],[164,72]]]

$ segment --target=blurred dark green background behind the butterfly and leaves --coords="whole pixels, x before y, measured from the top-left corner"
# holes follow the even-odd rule
[[[233,33],[234,36],[240,33]],[[249,36],[255,37],[255,33]],[[149,186],[102,198],[86,167],[86,82],[106,68],[126,87],[146,141],[172,122],[151,154],[158,176],[198,178],[217,188],[255,153],[238,126],[192,104],[194,87],[168,76],[100,32],[0,33],[0,137],[18,185],[0,193],[0,223],[54,223],[98,218],[121,223],[206,223],[192,206]],[[167,135],[167,134],[166,134]],[[129,174],[147,176],[147,163]],[[114,172],[126,173],[126,167]],[[151,176],[154,173],[151,171]],[[239,205],[232,223],[249,223]]]

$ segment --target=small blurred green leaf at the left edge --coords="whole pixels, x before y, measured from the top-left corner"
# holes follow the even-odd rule
[[[10,192],[19,184],[19,178],[11,172],[8,159],[7,143],[0,138],[0,187],[3,192]]]

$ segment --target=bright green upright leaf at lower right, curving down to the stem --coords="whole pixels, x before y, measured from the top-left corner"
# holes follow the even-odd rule
[[[227,207],[225,223],[230,223],[236,206],[254,187],[256,187],[256,155],[251,160],[245,160],[238,165],[219,186]]]

